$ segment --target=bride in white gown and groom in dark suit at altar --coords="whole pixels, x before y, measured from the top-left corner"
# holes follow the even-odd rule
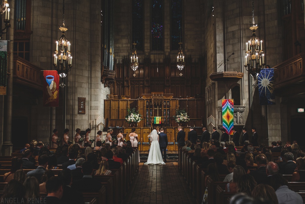
[[[164,129],[160,128],[160,133],[154,129],[148,137],[150,138],[150,149],[147,162],[145,165],[165,164],[166,162],[166,148],[167,148],[167,135],[164,133]],[[164,152],[164,161],[163,161]]]

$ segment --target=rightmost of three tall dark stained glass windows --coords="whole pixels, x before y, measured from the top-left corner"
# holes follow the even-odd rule
[[[178,50],[182,41],[182,0],[171,0],[171,50]]]

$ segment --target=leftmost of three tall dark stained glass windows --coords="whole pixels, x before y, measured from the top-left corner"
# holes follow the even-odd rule
[[[143,0],[132,0],[132,43],[143,50]]]

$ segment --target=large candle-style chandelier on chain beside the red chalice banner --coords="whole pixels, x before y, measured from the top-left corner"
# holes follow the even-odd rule
[[[57,71],[59,77],[62,79],[60,87],[65,87],[63,79],[67,76],[72,68],[72,55],[70,52],[71,43],[66,39],[65,31],[68,28],[65,27],[65,0],[63,0],[63,26],[59,27],[62,32],[61,37],[56,41],[56,51],[54,54],[54,69]]]

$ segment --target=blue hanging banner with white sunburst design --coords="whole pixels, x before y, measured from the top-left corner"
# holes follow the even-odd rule
[[[274,69],[262,69],[258,75],[260,105],[275,105]]]

